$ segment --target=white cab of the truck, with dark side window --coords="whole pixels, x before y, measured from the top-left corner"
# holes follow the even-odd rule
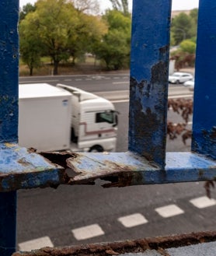
[[[109,100],[73,86],[57,84],[71,93],[71,149],[115,151],[117,112]]]

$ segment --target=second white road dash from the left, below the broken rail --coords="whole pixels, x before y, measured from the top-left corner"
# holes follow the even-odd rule
[[[75,230],[71,230],[76,240],[85,240],[92,237],[99,237],[104,234],[103,230],[98,224],[83,226]]]

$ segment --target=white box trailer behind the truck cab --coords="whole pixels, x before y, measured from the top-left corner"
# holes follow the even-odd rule
[[[71,93],[46,83],[19,85],[19,146],[69,149],[70,116]]]

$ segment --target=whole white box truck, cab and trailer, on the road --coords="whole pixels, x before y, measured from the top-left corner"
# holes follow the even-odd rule
[[[19,146],[37,151],[114,152],[117,112],[109,100],[72,86],[19,85]]]

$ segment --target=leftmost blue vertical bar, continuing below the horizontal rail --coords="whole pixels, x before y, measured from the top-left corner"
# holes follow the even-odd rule
[[[0,1],[0,142],[16,142],[19,1]],[[10,168],[10,167],[9,167]],[[0,193],[0,255],[16,251],[16,192]]]

